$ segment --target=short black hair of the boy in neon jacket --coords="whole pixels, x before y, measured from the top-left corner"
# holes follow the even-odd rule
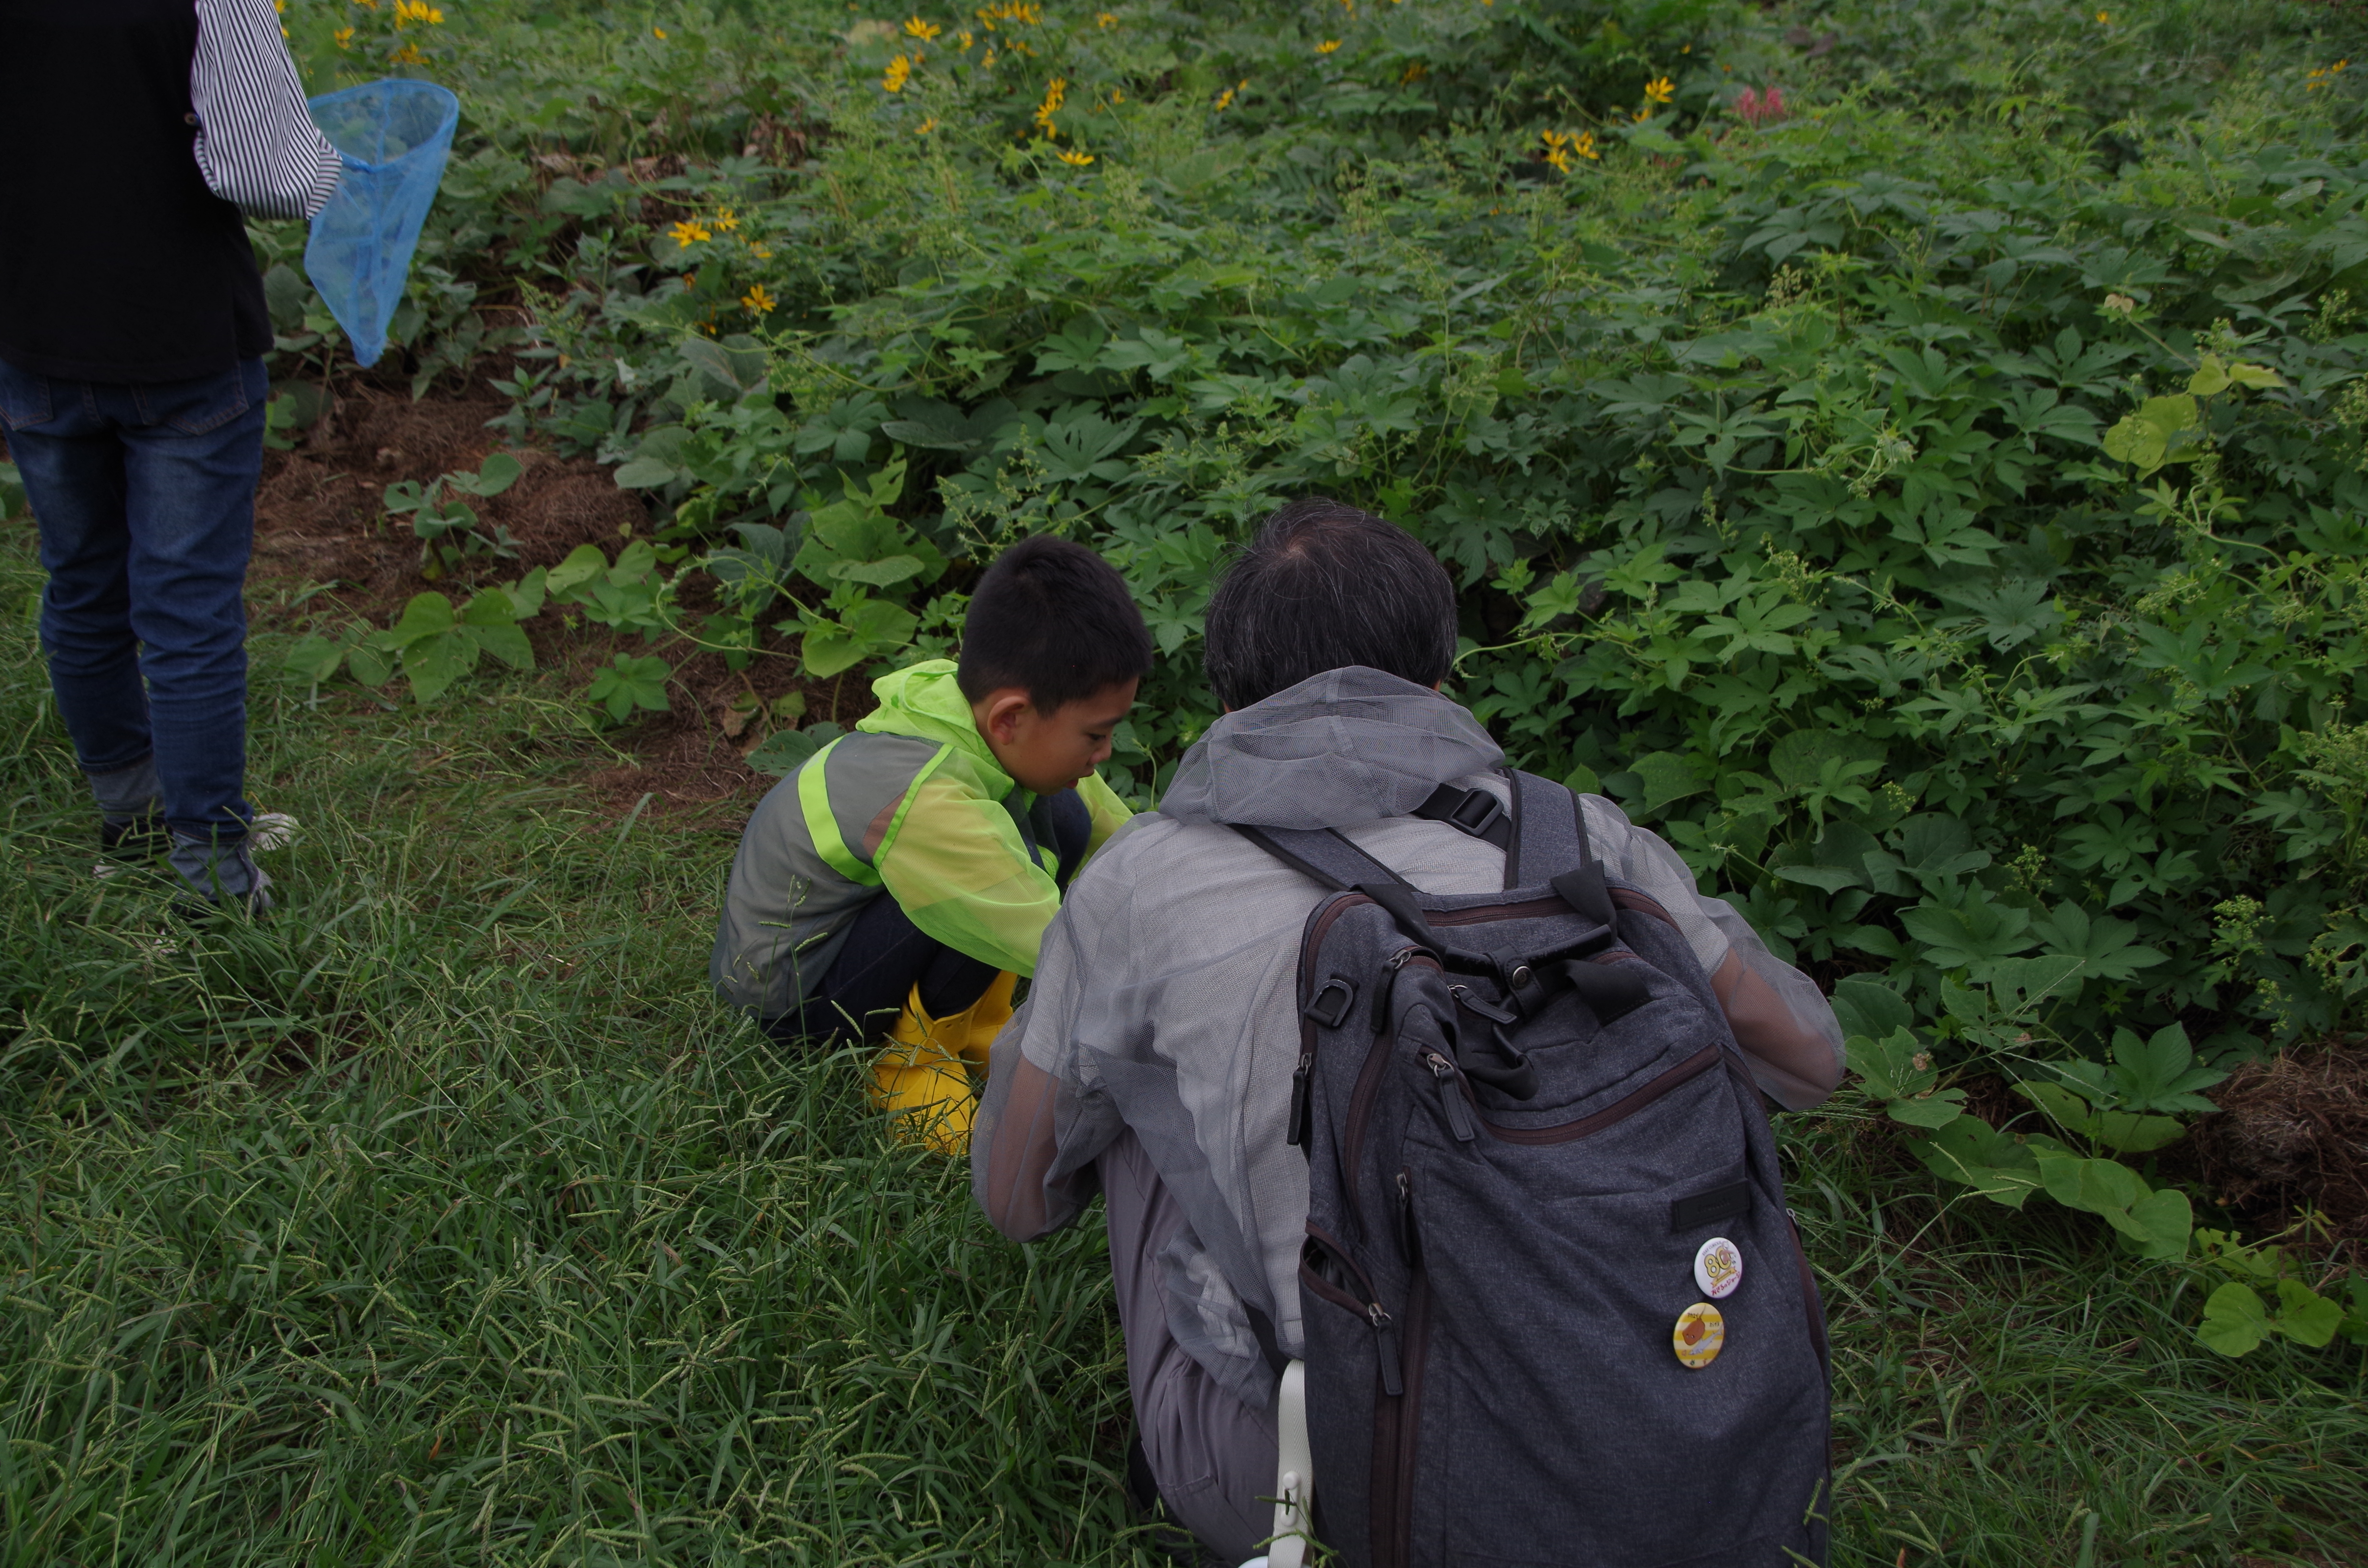
[[[1054,713],[1148,673],[1144,613],[1085,545],[1037,533],[995,557],[971,590],[954,685],[973,703],[1018,687],[1037,713]]]

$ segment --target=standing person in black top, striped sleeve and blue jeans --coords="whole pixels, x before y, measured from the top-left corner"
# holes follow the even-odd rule
[[[246,557],[272,346],[244,213],[339,182],[270,0],[0,0],[0,426],[40,642],[116,860],[268,910]]]

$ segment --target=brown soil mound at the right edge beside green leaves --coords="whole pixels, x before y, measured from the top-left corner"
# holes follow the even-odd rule
[[[2368,1251],[2368,1045],[2321,1040],[2247,1061],[2195,1123],[2190,1156],[2228,1213],[2283,1232],[2304,1210],[2354,1258]]]

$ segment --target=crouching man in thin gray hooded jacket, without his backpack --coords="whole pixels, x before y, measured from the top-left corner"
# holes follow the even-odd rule
[[[1276,512],[1205,637],[1227,713],[1047,931],[1032,995],[995,1040],[971,1180],[1014,1241],[1103,1194],[1139,1431],[1130,1490],[1241,1563],[1272,1532],[1276,1364],[1305,1345],[1310,1177],[1286,1130],[1300,936],[1326,888],[1234,827],[1336,829],[1421,893],[1487,893],[1506,850],[1414,812],[1442,784],[1508,784],[1497,744],[1437,692],[1456,649],[1447,573],[1381,519],[1328,500]],[[1610,801],[1587,796],[1582,820],[1603,869],[1691,945],[1759,1090],[1821,1101],[1842,1052],[1816,988]]]

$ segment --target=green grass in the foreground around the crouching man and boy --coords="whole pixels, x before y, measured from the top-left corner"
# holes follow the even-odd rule
[[[88,876],[0,542],[0,1561],[1130,1563],[1096,1225],[1016,1248],[850,1056],[706,995],[732,841],[616,815],[533,677],[258,680],[284,912]],[[258,637],[258,668],[279,640]],[[2361,1561],[2356,1350],[2226,1362],[2079,1215],[1793,1130],[1838,1561]],[[1672,1506],[1684,1506],[1672,1457]]]

